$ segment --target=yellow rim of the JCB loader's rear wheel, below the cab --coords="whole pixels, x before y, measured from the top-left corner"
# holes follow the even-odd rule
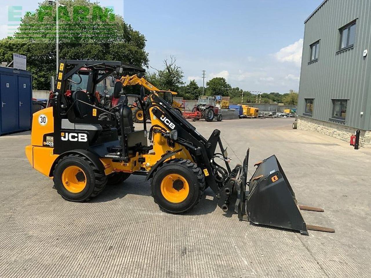
[[[71,193],[80,193],[86,186],[86,175],[78,166],[68,166],[62,173],[63,186]]]

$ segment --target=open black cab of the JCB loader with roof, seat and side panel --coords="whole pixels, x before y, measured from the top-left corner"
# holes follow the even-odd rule
[[[100,90],[108,93],[107,79],[111,76],[119,78],[124,72],[141,71],[144,70],[122,62],[60,61],[53,102],[55,153],[86,149],[104,156],[108,145],[119,146],[118,116],[102,105],[99,99]],[[112,96],[120,97],[121,82],[116,83],[110,90]],[[124,122],[122,128],[126,137],[127,133],[134,132],[134,127],[131,110],[125,99],[126,97],[122,106],[124,117],[120,120]]]

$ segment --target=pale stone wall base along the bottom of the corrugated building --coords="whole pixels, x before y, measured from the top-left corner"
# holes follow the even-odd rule
[[[298,116],[298,129],[316,131],[345,142],[350,142],[350,136],[355,134],[355,128],[343,126],[336,123],[324,122],[308,117]],[[371,130],[362,130],[359,145],[363,148],[371,148]]]

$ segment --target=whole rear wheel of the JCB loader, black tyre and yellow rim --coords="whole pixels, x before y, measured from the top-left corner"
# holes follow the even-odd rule
[[[60,159],[55,166],[53,181],[64,199],[83,202],[102,192],[107,177],[86,157],[68,155]]]

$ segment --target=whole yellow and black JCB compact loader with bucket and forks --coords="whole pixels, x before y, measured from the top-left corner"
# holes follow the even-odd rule
[[[81,68],[89,70],[84,88],[69,92],[71,76]],[[104,75],[101,73],[104,72]],[[308,234],[308,229],[331,229],[306,225],[278,160],[271,156],[256,164],[247,181],[249,150],[243,165],[231,169],[220,131],[209,139],[156,93],[150,105],[142,103],[144,89],[137,96],[143,111],[143,129],[135,130],[127,96],[122,96],[120,125],[116,114],[92,104],[96,84],[109,75],[120,77],[143,69],[122,62],[61,60],[53,106],[33,116],[31,144],[26,156],[37,171],[53,179],[58,193],[68,201],[83,202],[97,196],[108,183],[120,183],[130,175],[151,179],[151,195],[161,209],[181,213],[200,201],[207,187],[226,212],[231,195],[237,192],[235,208],[240,220],[292,229]],[[119,97],[122,83],[114,87]],[[133,96],[133,95],[131,95]],[[107,117],[99,117],[106,113]],[[145,117],[150,115],[147,131]],[[121,137],[116,126],[120,126]],[[152,142],[148,145],[148,140]],[[219,150],[216,151],[219,146]],[[216,159],[224,161],[221,166]]]

